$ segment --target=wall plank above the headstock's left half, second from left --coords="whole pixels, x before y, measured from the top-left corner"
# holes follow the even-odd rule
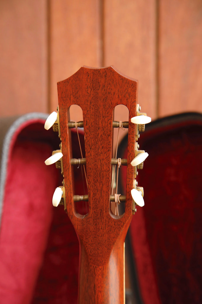
[[[83,65],[100,67],[99,0],[51,0],[50,30],[50,110],[54,111],[58,81]]]

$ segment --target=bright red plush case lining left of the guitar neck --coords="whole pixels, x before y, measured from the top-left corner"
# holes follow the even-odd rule
[[[79,243],[63,206],[52,206],[61,174],[44,161],[59,142],[43,123],[25,123],[10,146],[0,231],[1,303],[77,302]],[[75,178],[79,186],[80,176]]]

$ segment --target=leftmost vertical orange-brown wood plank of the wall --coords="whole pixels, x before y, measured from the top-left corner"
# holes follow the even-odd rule
[[[46,0],[0,1],[0,116],[47,111]]]

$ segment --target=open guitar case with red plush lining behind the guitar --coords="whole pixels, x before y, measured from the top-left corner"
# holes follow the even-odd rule
[[[52,206],[62,179],[44,164],[59,148],[57,133],[44,130],[46,117],[0,121],[1,304],[77,303],[79,243],[63,206]],[[127,303],[202,303],[201,130],[202,115],[187,113],[154,121],[140,135],[149,157],[137,178],[145,206],[137,206],[126,237]],[[76,133],[72,150],[76,156]],[[124,138],[119,157],[126,150]]]

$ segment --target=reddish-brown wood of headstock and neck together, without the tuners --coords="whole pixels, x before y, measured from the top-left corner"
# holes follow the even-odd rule
[[[125,78],[112,67],[81,67],[58,83],[62,161],[68,216],[80,243],[79,304],[124,303],[124,240],[132,218],[137,81]],[[69,107],[83,111],[89,213],[76,213],[73,201],[73,169],[68,128]],[[126,178],[126,206],[123,216],[110,210],[112,178],[113,109],[124,104],[129,109],[129,136]]]

